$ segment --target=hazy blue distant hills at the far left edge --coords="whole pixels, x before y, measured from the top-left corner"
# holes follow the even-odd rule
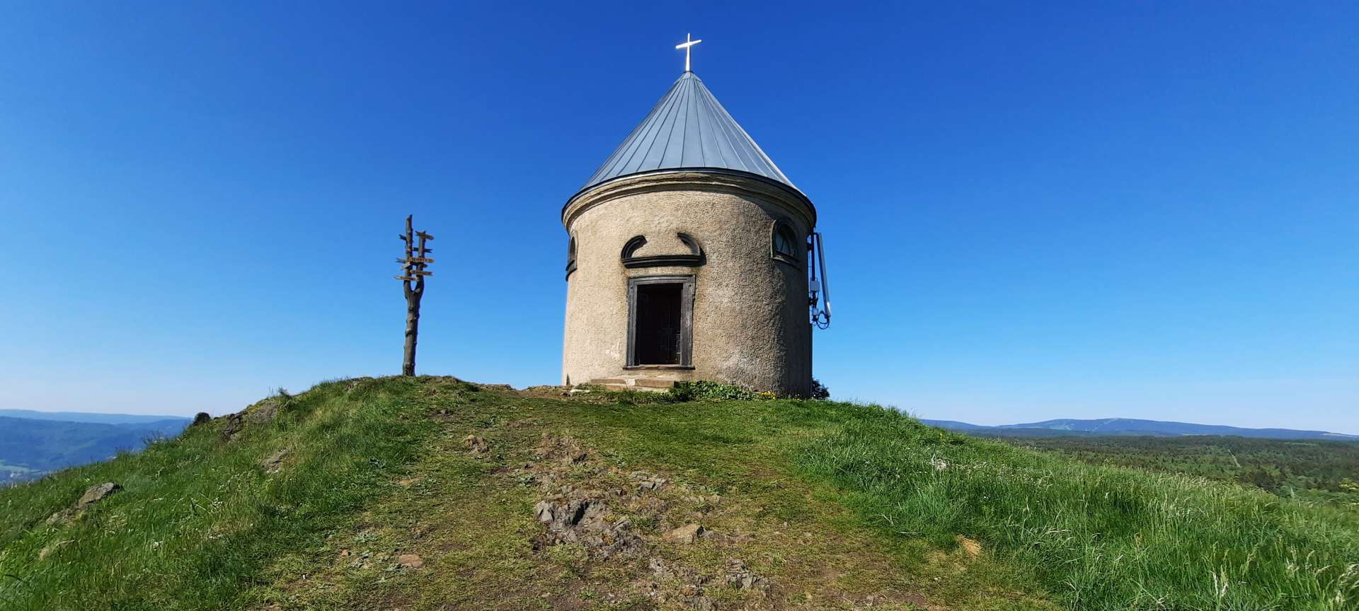
[[[137,451],[148,439],[179,434],[189,422],[166,415],[0,410],[0,485]]]

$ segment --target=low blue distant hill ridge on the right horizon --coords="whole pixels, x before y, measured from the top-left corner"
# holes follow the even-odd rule
[[[921,420],[921,422],[939,426],[942,429],[958,430],[962,433],[985,434],[993,437],[1060,437],[1060,436],[1106,436],[1106,434],[1143,434],[1154,437],[1178,437],[1186,434],[1219,434],[1233,437],[1254,439],[1309,439],[1309,440],[1337,440],[1359,441],[1356,434],[1328,433],[1325,430],[1295,430],[1295,429],[1246,429],[1241,426],[1201,425],[1190,422],[1167,422],[1159,420],[1137,418],[1098,418],[1098,420],[1045,420],[1042,422],[983,426],[951,420]]]

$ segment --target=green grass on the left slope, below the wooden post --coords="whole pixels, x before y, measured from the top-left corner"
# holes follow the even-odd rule
[[[279,394],[279,415],[232,441],[216,421],[4,490],[0,608],[239,608],[266,561],[322,538],[420,451],[432,425],[413,394],[400,379]],[[260,464],[284,448],[285,468]],[[106,481],[124,490],[71,524],[45,523]]]

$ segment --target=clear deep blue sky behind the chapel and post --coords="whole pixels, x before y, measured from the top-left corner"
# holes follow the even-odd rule
[[[0,407],[560,375],[559,212],[694,71],[821,213],[840,398],[1359,433],[1352,3],[11,3]]]

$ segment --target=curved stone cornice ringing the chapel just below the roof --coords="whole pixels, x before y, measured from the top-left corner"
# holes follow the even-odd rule
[[[656,191],[713,191],[754,197],[799,217],[809,228],[817,227],[817,209],[807,196],[768,178],[730,170],[662,170],[616,178],[572,196],[561,209],[561,224],[569,229],[575,217],[590,208],[620,197]]]

